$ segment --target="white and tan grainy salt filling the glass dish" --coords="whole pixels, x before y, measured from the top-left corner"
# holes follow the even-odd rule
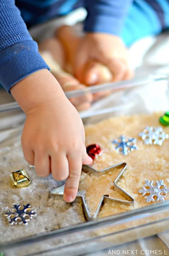
[[[162,126],[159,123],[161,114],[163,113],[112,117],[85,127],[86,146],[97,143],[102,149],[100,154],[96,155],[92,167],[99,171],[114,164],[126,162],[127,170],[124,172],[118,185],[135,200],[135,203],[131,205],[116,202],[106,203],[100,210],[99,218],[120,214],[150,204],[158,204],[158,202],[147,203],[144,196],[138,193],[138,190],[144,186],[145,180],[153,180],[154,182],[156,180],[163,180],[165,186],[169,188],[169,139],[165,140],[161,146],[158,146],[145,145],[139,137],[140,132],[144,130],[145,126]],[[169,134],[169,127],[162,127]],[[123,155],[116,151],[112,140],[115,140],[122,134],[137,139],[137,150],[130,152],[128,155]],[[28,171],[32,182],[26,188],[13,188],[9,182],[10,173],[22,168]],[[108,194],[110,197],[125,200],[113,189],[114,180],[119,172],[120,170],[116,169],[99,177],[82,172],[79,190],[85,191],[86,204],[91,214],[94,214],[96,211],[102,195]],[[35,170],[30,168],[26,160],[24,160],[20,142],[16,142],[11,147],[0,149],[0,175],[0,202],[2,202],[0,207],[0,230],[4,234],[0,241],[2,244],[26,236],[85,222],[83,209],[80,204],[67,204],[62,200],[49,198],[49,190],[63,183],[56,182],[51,175],[47,178],[38,177]],[[169,200],[169,193],[165,200]],[[28,223],[28,226],[10,226],[4,217],[4,212],[13,204],[28,203],[31,204],[33,210],[37,213],[37,218],[33,218]],[[159,218],[158,214],[156,218]],[[160,218],[162,217],[160,216]],[[127,223],[126,227],[138,224],[141,224],[141,222],[138,223],[134,220],[132,224]],[[121,228],[124,228],[124,226]],[[161,232],[164,227],[161,225],[158,229],[156,225],[156,228],[156,231],[151,229],[153,233],[150,233]],[[116,226],[113,229],[116,230]],[[107,230],[101,230],[100,232],[104,233]]]

